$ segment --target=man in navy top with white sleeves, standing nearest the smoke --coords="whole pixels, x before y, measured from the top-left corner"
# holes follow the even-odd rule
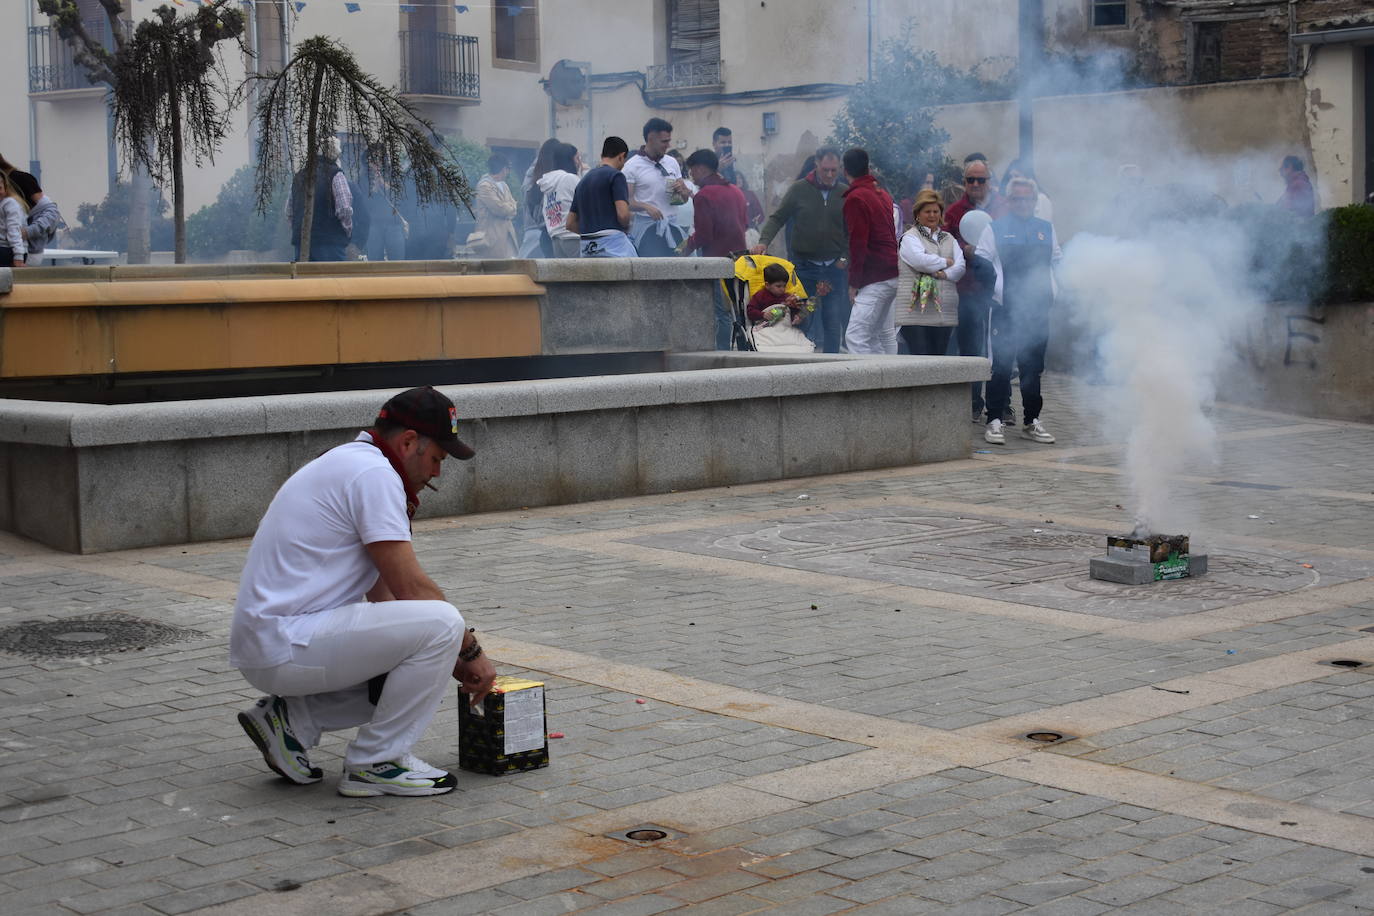
[[[1050,343],[1050,306],[1054,305],[1052,268],[1059,262],[1054,227],[1037,220],[1037,188],[1029,179],[1015,179],[1009,188],[1011,213],[993,220],[978,240],[977,254],[998,272],[992,308],[992,380],[988,382],[988,426],[982,438],[1004,445],[1002,416],[1011,405],[1011,369],[1021,374],[1021,437],[1051,444],[1054,437],[1040,423],[1040,374]]]

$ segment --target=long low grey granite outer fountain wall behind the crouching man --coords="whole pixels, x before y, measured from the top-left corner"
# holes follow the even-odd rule
[[[665,354],[666,372],[445,389],[471,461],[425,515],[896,467],[969,453],[962,357]],[[0,529],[71,552],[251,534],[276,488],[392,390],[0,401]]]

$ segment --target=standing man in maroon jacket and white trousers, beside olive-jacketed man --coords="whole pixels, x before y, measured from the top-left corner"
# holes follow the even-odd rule
[[[849,231],[849,298],[855,304],[849,330],[845,331],[845,349],[851,353],[896,353],[897,227],[892,196],[868,174],[868,154],[864,150],[848,150],[842,162],[849,176],[845,228]]]

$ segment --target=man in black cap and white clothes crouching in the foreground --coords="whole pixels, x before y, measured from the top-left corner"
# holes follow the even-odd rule
[[[452,674],[475,702],[496,672],[458,608],[420,569],[409,519],[447,456],[470,459],[458,411],[431,387],[387,401],[376,422],[282,485],[249,548],[229,663],[268,694],[239,713],[262,759],[317,783],[309,750],[357,728],[341,795],[441,795],[452,775],[411,753]]]

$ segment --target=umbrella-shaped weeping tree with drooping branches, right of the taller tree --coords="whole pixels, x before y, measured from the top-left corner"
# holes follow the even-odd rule
[[[348,48],[324,36],[297,45],[280,73],[251,76],[245,87],[262,84],[257,103],[257,205],[265,211],[283,180],[294,180],[301,163],[301,258],[311,258],[315,179],[323,140],[342,128],[368,151],[383,184],[407,181],[420,201],[467,206],[473,191],[462,168],[448,154],[434,125],[394,91],[363,71]],[[304,140],[304,150],[300,141]]]

